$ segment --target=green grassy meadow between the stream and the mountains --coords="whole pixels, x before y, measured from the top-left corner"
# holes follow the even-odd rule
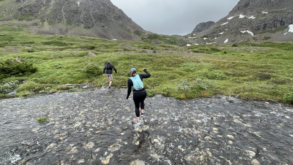
[[[151,41],[35,35],[22,28],[0,24],[0,98],[7,98],[13,88],[17,88],[17,97],[23,97],[75,90],[65,84],[107,86],[103,67],[110,60],[118,72],[113,74],[115,87],[127,85],[130,68],[137,68],[138,73],[147,68],[151,77],[144,85],[149,96],[188,99],[223,94],[293,103],[292,42],[179,47],[151,45]],[[87,57],[89,52],[97,56]]]

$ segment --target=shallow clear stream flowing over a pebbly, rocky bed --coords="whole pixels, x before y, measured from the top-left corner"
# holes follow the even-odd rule
[[[0,164],[292,165],[288,105],[156,95],[134,123],[126,94],[97,88],[0,100]]]

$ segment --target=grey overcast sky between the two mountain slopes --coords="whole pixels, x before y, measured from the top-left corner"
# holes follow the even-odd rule
[[[239,0],[111,0],[146,31],[186,35],[201,22],[225,17]]]

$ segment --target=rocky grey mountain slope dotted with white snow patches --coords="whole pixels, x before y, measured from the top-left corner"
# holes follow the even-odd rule
[[[192,43],[293,41],[293,1],[240,0],[227,16],[190,36]]]

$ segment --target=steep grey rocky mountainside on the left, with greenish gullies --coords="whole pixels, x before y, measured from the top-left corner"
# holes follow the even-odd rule
[[[0,0],[0,21],[30,23],[33,33],[140,40],[144,31],[110,0]]]

